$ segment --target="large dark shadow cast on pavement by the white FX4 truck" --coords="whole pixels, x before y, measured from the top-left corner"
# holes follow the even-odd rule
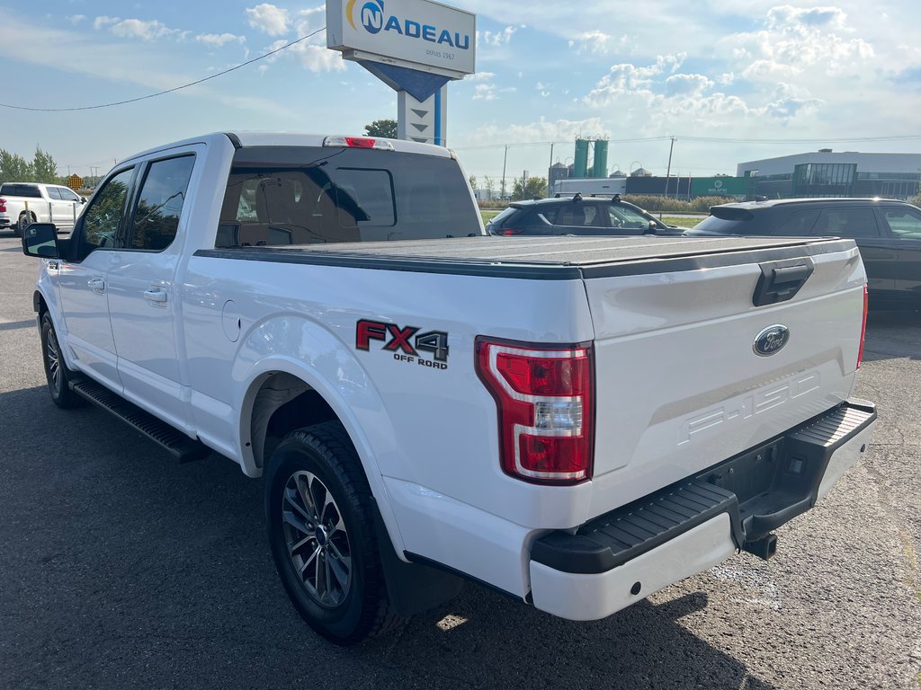
[[[574,623],[468,584],[350,649],[288,603],[264,538],[262,482],[191,465],[43,386],[0,394],[0,686],[746,688],[694,636],[704,594]]]

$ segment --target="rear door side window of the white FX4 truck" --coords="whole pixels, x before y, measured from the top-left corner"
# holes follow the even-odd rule
[[[195,156],[154,161],[147,167],[134,211],[131,248],[161,251],[176,238]]]

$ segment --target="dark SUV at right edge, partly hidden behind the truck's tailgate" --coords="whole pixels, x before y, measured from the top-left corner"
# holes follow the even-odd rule
[[[685,236],[836,236],[857,243],[870,304],[921,308],[921,209],[891,199],[779,199],[713,206]]]

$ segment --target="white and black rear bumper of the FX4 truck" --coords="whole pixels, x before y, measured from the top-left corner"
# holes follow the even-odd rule
[[[543,535],[530,553],[534,605],[572,620],[603,618],[736,549],[764,548],[772,530],[808,511],[857,461],[875,422],[872,403],[849,401],[575,534]]]

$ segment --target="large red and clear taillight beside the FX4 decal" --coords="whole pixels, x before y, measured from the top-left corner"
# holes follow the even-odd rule
[[[591,345],[543,347],[476,339],[476,371],[495,398],[502,468],[536,484],[591,478]]]

